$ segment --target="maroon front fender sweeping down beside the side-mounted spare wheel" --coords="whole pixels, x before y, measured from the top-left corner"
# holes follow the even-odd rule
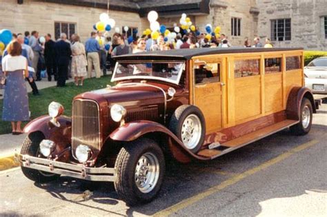
[[[183,158],[188,158],[189,156],[199,160],[210,160],[210,158],[204,158],[190,152],[179,138],[168,130],[167,127],[153,121],[132,121],[126,123],[112,132],[109,137],[113,141],[134,141],[135,139],[152,132],[160,132],[170,138],[170,144],[168,144],[170,151],[178,161],[185,162],[186,159]]]

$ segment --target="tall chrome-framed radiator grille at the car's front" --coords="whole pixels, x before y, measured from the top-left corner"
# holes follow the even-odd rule
[[[80,144],[100,149],[99,105],[77,99],[72,103],[72,149]]]

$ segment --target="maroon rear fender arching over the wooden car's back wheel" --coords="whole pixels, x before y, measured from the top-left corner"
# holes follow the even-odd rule
[[[313,106],[313,113],[316,113],[315,99],[313,93],[307,87],[293,87],[288,95],[286,105],[286,116],[288,119],[299,120],[302,99],[307,98]]]

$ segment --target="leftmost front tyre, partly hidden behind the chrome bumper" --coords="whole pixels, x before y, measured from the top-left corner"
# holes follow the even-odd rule
[[[39,157],[39,144],[42,140],[43,135],[41,134],[28,135],[21,147],[21,154],[28,154],[29,156]],[[60,176],[58,174],[41,172],[37,169],[30,169],[23,166],[21,166],[21,171],[27,178],[37,183],[48,183],[52,180],[56,180]]]

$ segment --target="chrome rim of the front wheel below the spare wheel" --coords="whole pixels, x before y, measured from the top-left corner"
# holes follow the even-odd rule
[[[135,183],[142,193],[151,192],[159,179],[160,166],[157,156],[147,152],[139,158],[135,168]]]

